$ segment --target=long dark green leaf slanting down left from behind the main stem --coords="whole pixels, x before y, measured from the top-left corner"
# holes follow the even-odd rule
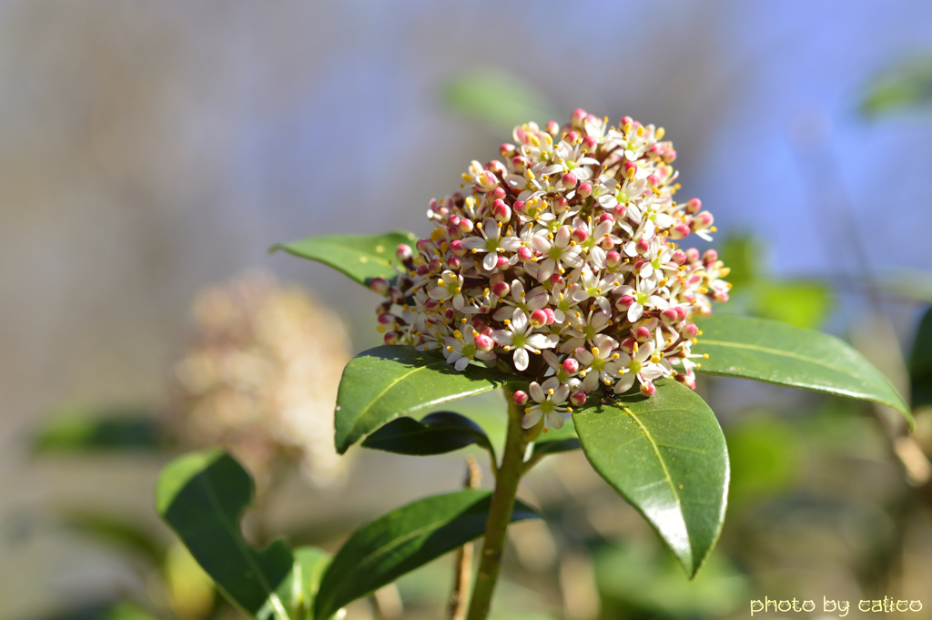
[[[486,530],[491,497],[485,489],[434,495],[356,530],[323,575],[314,617],[328,617],[350,601],[480,536]],[[526,504],[514,504],[513,522],[538,517]]]

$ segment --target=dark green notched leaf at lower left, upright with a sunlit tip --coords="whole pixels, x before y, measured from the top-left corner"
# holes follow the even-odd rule
[[[282,541],[262,550],[248,544],[240,517],[253,495],[253,480],[239,462],[220,450],[206,450],[179,457],[162,470],[156,507],[240,610],[260,620],[303,617],[312,599],[305,573],[319,571],[322,558],[306,551],[294,558]]]

